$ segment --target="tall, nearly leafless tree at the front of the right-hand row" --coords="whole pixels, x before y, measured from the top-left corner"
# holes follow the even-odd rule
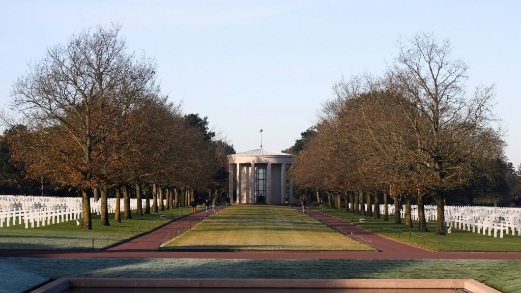
[[[446,191],[471,176],[472,163],[480,154],[494,150],[493,142],[478,134],[499,135],[490,126],[493,86],[480,86],[467,95],[468,66],[451,59],[451,50],[448,40],[438,43],[432,35],[418,34],[401,42],[400,54],[384,80],[416,135],[418,147],[411,155],[423,169],[426,189],[436,197],[436,235],[445,235]],[[411,104],[414,111],[409,111]]]

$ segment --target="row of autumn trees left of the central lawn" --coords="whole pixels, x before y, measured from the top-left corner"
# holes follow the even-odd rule
[[[188,203],[195,188],[210,194],[225,188],[226,155],[234,152],[215,139],[206,117],[182,115],[168,101],[154,60],[127,53],[119,31],[118,26],[85,30],[31,64],[13,86],[19,124],[3,136],[22,177],[81,194],[83,229],[92,228],[91,191],[101,198],[102,225],[109,225],[111,189],[118,199],[123,194],[124,217],[131,217],[131,187],[138,214],[143,186],[157,212],[165,208],[165,197],[168,208],[174,200]],[[146,192],[148,186],[152,192]]]

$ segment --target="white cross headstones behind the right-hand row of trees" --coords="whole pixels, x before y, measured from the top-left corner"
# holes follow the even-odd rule
[[[367,204],[365,205],[367,210]],[[380,214],[384,213],[385,206],[380,204]],[[393,204],[388,204],[388,213],[395,214]],[[436,205],[425,205],[426,222],[437,221]],[[374,205],[371,206],[374,211]],[[400,217],[405,218],[405,205],[400,209]],[[418,206],[411,205],[411,217],[418,221]],[[483,235],[503,238],[505,234],[521,236],[521,208],[519,207],[492,207],[492,206],[445,206],[445,226],[481,233]]]

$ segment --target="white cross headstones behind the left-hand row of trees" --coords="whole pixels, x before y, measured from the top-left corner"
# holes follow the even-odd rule
[[[101,201],[94,202],[92,198],[90,200],[91,213],[99,215]],[[107,199],[107,206],[108,212],[114,213],[116,199]],[[145,200],[142,200],[142,206],[145,206]],[[137,200],[130,199],[130,209],[135,210],[137,207]],[[0,228],[22,224],[26,228],[34,228],[73,221],[81,217],[81,198],[0,195]]]

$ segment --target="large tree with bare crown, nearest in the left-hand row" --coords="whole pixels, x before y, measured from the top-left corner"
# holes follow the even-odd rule
[[[82,229],[92,228],[87,190],[107,158],[103,142],[131,105],[159,90],[154,62],[126,53],[119,31],[98,26],[73,35],[49,48],[13,86],[12,108],[30,129],[53,128],[73,142],[67,150],[55,144],[54,155],[79,175],[67,181],[81,190]],[[75,160],[66,160],[71,155]]]

